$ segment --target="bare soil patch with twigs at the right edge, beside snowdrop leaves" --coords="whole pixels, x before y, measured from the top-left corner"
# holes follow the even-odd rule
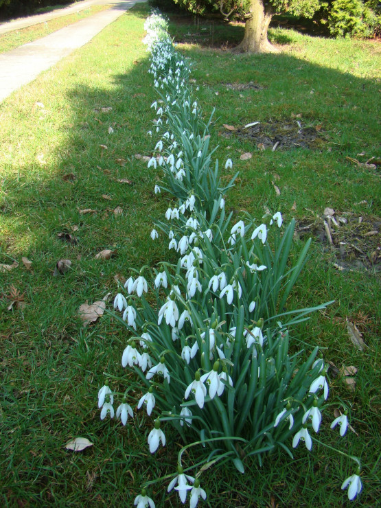
[[[326,209],[327,210],[327,209]],[[331,213],[299,220],[296,235],[313,235],[323,250],[334,256],[334,267],[341,272],[369,270],[381,272],[381,218],[355,213]]]

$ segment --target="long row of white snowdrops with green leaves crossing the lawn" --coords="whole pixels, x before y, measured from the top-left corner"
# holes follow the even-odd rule
[[[165,219],[152,229],[152,240],[167,238],[177,262],[131,269],[114,301],[117,319],[128,330],[122,366],[136,373],[126,387],[116,417],[123,425],[135,411],[154,422],[148,435],[151,453],[165,446],[165,426],[183,439],[168,492],[182,503],[189,494],[196,507],[207,494],[201,471],[231,461],[244,472],[245,462],[259,464],[267,452],[312,441],[321,425],[329,386],[318,347],[307,358],[295,350],[295,325],[315,310],[288,310],[287,299],[306,261],[309,242],[290,261],[295,221],[285,227],[279,211],[257,222],[246,214],[232,219],[225,198],[234,178],[223,187],[209,127],[188,84],[189,65],[175,51],[166,23],[154,14],[146,21],[150,73],[158,100],[149,136],[156,135],[148,167],[161,168],[154,192],[172,196]],[[153,131],[153,133],[152,133]],[[225,168],[232,168],[228,159]],[[236,176],[236,175],[235,175]],[[158,231],[159,230],[159,231]],[[117,377],[113,376],[114,379]],[[131,387],[142,396],[133,400]],[[101,419],[114,417],[118,392],[108,382],[98,393]],[[343,436],[347,410],[332,422]],[[196,465],[183,454],[198,447]],[[343,453],[343,452],[341,452]],[[348,497],[360,492],[360,463],[344,481]],[[195,470],[195,476],[187,472]],[[145,485],[137,507],[154,507]]]

